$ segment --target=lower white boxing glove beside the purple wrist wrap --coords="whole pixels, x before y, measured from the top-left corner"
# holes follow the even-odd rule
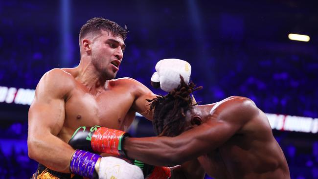
[[[102,157],[98,179],[144,179],[142,170],[117,157]]]

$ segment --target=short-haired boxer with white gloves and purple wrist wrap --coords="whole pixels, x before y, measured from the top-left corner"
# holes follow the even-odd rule
[[[136,112],[152,119],[146,99],[156,95],[134,79],[114,79],[123,59],[126,36],[126,27],[92,18],[80,31],[78,67],[55,68],[41,78],[28,114],[28,155],[40,163],[33,178],[143,178],[139,167],[122,159],[101,157],[68,145],[80,126],[126,131]],[[161,60],[156,70],[152,80],[166,90],[180,84],[179,74],[187,80],[191,74],[190,65],[178,59]],[[121,166],[120,170],[106,170],[115,166]]]

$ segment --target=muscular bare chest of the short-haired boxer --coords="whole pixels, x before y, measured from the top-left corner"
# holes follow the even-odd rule
[[[105,90],[97,96],[74,90],[65,104],[65,127],[93,126],[125,130],[135,117],[131,111],[134,97],[118,89]],[[129,124],[127,124],[129,123]]]

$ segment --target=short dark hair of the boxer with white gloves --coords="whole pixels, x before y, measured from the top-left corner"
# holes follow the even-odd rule
[[[79,34],[79,40],[84,38],[90,32],[100,32],[100,30],[105,30],[111,32],[114,36],[120,36],[123,40],[127,37],[127,26],[122,28],[116,22],[110,21],[104,18],[92,18],[88,20],[81,28]]]

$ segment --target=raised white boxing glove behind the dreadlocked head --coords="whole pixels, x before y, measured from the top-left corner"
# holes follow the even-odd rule
[[[186,84],[190,81],[191,66],[180,59],[163,59],[156,65],[156,72],[151,77],[151,85],[170,92],[180,85],[180,75]]]

